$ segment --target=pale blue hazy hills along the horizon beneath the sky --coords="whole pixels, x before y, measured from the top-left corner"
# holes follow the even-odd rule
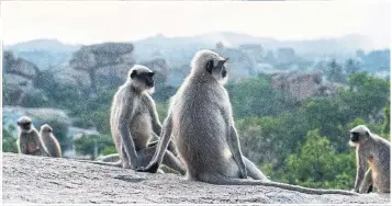
[[[135,46],[136,61],[165,58],[168,65],[187,64],[195,50],[215,48],[216,43],[225,47],[237,47],[242,44],[259,44],[265,50],[291,47],[296,55],[314,59],[317,57],[347,58],[355,56],[356,50],[374,49],[372,41],[363,35],[352,34],[339,38],[309,41],[278,41],[275,38],[255,37],[234,32],[214,32],[195,36],[167,37],[161,34],[131,42]],[[13,50],[18,56],[37,64],[38,67],[53,67],[66,64],[71,53],[82,45],[63,44],[57,39],[34,39],[15,45],[5,45],[5,50]],[[53,59],[51,61],[51,59]],[[43,68],[45,69],[45,68]]]

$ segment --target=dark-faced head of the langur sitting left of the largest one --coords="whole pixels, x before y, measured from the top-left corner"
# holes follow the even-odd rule
[[[154,71],[145,66],[135,65],[128,72],[128,80],[132,85],[141,92],[154,92]]]

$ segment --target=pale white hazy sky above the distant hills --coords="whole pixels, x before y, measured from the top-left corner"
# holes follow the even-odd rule
[[[301,2],[1,2],[2,39],[57,38],[68,44],[190,36],[232,31],[278,39],[369,35],[390,44],[391,3]]]

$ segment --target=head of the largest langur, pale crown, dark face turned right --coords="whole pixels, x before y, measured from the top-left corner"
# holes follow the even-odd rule
[[[228,58],[223,58],[212,50],[199,50],[191,62],[191,73],[194,76],[210,76],[219,83],[227,82],[227,69],[224,64]]]

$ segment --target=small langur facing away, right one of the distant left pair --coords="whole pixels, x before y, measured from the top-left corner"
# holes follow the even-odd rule
[[[42,125],[40,135],[51,157],[61,158],[61,147],[53,135],[53,128],[48,124]]]

